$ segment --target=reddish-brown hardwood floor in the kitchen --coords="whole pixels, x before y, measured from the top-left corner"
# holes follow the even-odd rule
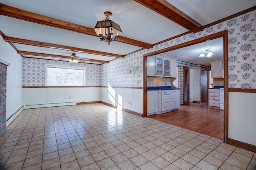
[[[178,110],[151,115],[148,118],[196,131],[211,137],[224,137],[224,111],[208,108],[208,103],[190,103]]]

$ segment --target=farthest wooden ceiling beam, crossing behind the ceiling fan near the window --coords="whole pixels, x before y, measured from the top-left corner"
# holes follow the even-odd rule
[[[28,51],[17,51],[17,53],[20,55],[34,55],[34,56],[40,56],[40,57],[56,57],[56,58],[62,58],[62,59],[70,59],[70,57],[64,56],[64,55],[34,53],[34,52],[28,52]],[[79,59],[82,61],[90,61],[90,62],[96,62],[96,63],[108,63],[108,61],[102,61],[102,60],[94,60],[94,59],[87,60],[87,59],[83,59],[83,58],[79,58]]]

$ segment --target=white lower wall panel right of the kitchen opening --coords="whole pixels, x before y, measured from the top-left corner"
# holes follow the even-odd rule
[[[228,138],[256,146],[256,93],[228,93]]]

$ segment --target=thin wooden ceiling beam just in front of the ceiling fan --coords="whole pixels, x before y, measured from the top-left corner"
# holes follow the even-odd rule
[[[52,49],[60,49],[60,50],[74,51],[74,52],[80,52],[80,53],[88,53],[88,54],[93,54],[93,55],[124,58],[124,55],[105,53],[105,52],[101,52],[101,51],[81,49],[81,48],[76,48],[76,47],[68,47],[68,46],[64,46],[64,45],[57,45],[57,44],[51,44],[51,43],[43,43],[43,42],[32,41],[32,40],[27,40],[27,39],[20,39],[20,38],[14,38],[14,37],[4,37],[3,39],[4,39],[4,41],[10,42],[10,43],[19,43],[19,44],[24,44],[24,45],[33,45],[33,46],[37,46],[37,47],[46,47],[46,48],[52,48]]]

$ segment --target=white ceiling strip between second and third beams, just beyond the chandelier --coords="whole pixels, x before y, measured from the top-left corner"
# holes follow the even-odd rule
[[[100,41],[100,37],[40,25],[28,21],[0,16],[1,31],[8,37],[47,42],[82,49],[90,49],[107,53],[125,55],[141,47],[125,43]]]

